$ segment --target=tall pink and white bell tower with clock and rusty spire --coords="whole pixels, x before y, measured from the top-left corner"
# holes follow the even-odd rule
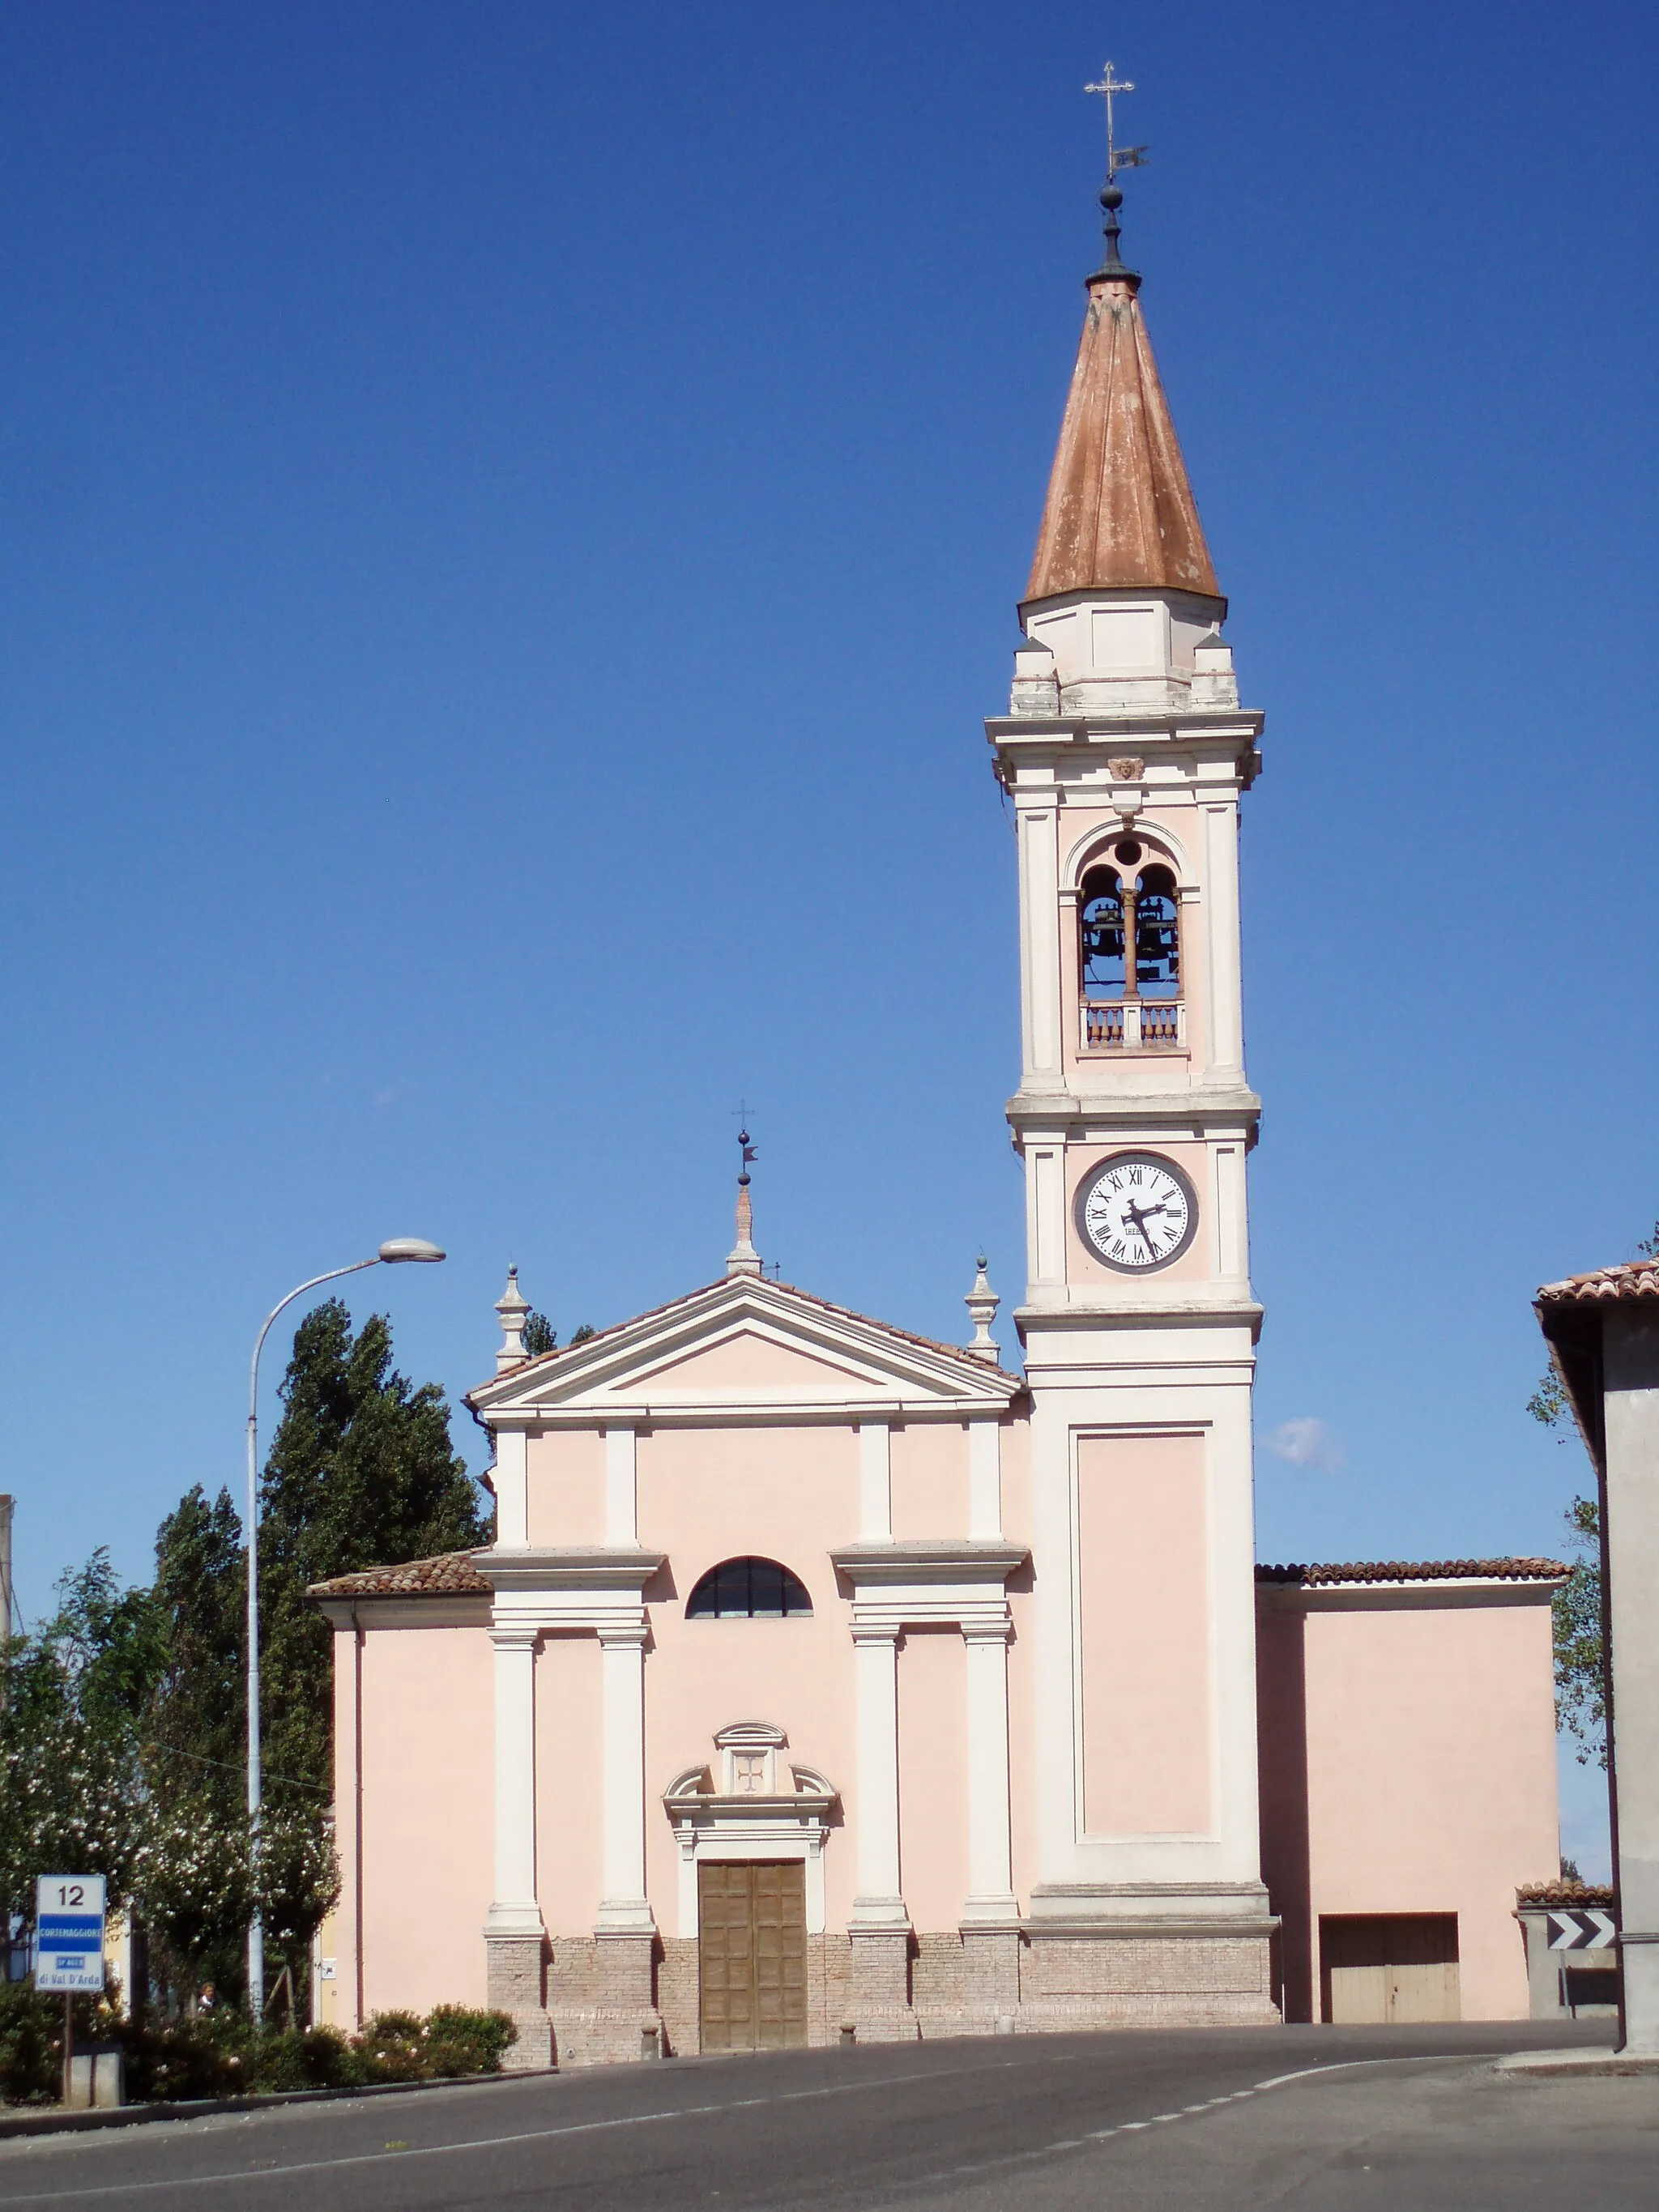
[[[1110,175],[1102,206],[1013,695],[987,723],[1020,849],[1031,1966],[1055,1997],[1144,1982],[1188,1993],[1181,2017],[1267,2020],[1239,969],[1261,714]]]

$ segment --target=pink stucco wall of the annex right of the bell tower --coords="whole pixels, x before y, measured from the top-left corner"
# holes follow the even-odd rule
[[[1548,1593],[1263,1590],[1263,1874],[1285,2008],[1318,2017],[1321,1913],[1458,1913],[1464,2020],[1524,2020],[1522,1882],[1557,1874]]]

